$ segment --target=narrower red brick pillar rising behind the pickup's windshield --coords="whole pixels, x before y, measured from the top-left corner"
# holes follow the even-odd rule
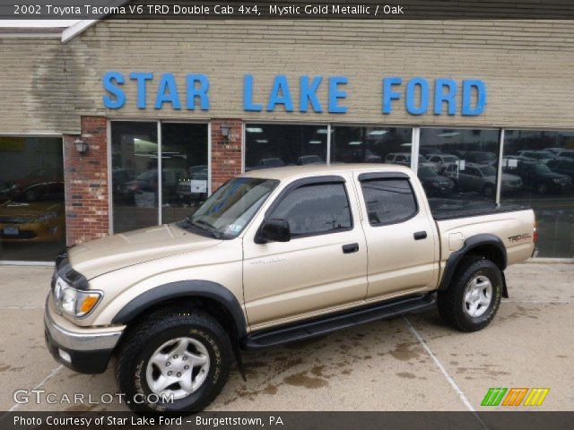
[[[229,140],[222,125],[230,125]],[[212,192],[233,176],[241,174],[241,120],[212,119]]]

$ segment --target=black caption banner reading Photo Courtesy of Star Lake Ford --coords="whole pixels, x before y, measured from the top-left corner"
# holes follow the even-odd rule
[[[534,430],[570,429],[574,412],[202,412],[137,416],[129,412],[5,412],[2,430],[281,429],[281,430]]]

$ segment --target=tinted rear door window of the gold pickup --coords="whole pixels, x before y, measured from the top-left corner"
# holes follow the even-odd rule
[[[418,208],[407,178],[373,179],[361,182],[373,227],[396,224],[416,215]]]

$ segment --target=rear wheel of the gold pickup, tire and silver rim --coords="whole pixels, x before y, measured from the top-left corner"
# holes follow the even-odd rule
[[[439,314],[459,331],[482,330],[498,311],[501,292],[498,266],[490,260],[467,257],[448,288],[439,291]]]

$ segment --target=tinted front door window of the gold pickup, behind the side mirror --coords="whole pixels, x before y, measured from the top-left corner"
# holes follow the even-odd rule
[[[352,228],[344,184],[300,186],[285,196],[271,218],[287,220],[292,237],[324,235]]]

